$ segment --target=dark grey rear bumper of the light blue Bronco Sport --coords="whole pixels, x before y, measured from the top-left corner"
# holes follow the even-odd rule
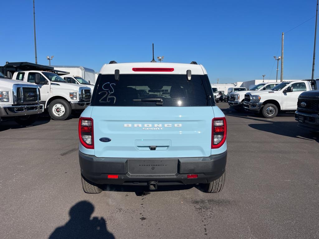
[[[219,178],[225,171],[227,151],[209,157],[172,158],[178,160],[177,173],[150,175],[152,165],[139,165],[144,173],[132,175],[128,169],[128,161],[145,160],[145,158],[98,158],[79,151],[81,173],[88,180],[97,184],[147,185],[156,181],[158,185],[181,185],[209,183]],[[147,159],[159,162],[160,158]],[[167,158],[165,158],[167,160]],[[154,165],[157,166],[157,165]],[[118,175],[117,179],[109,179],[108,175]],[[188,174],[197,174],[197,178],[187,178]]]

